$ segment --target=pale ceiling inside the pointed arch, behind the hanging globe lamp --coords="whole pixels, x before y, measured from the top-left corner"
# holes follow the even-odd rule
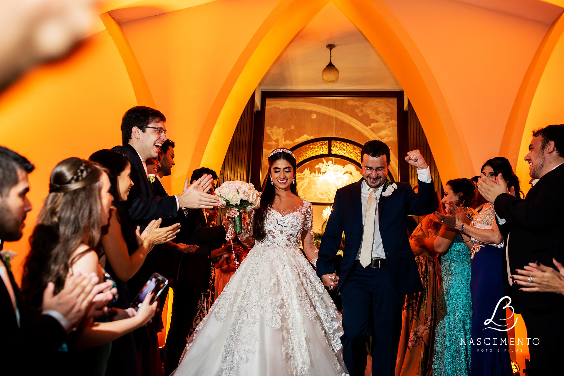
[[[329,62],[325,46],[335,44],[333,64],[340,72],[326,84],[321,70]],[[402,90],[386,62],[358,29],[330,2],[299,32],[270,67],[262,90]]]

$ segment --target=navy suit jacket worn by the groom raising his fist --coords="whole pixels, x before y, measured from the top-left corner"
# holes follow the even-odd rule
[[[417,194],[408,183],[396,182],[396,184],[398,188],[390,196],[380,196],[378,223],[391,284],[398,294],[409,294],[420,292],[422,285],[415,263],[415,254],[409,246],[406,218],[409,214],[433,213],[437,209],[435,204],[437,200],[432,182],[419,181]],[[319,276],[335,271],[333,258],[340,248],[341,235],[343,231],[345,232],[345,249],[343,249],[337,292],[346,283],[362,244],[361,186],[362,180],[337,190],[331,216],[321,238],[317,261]]]

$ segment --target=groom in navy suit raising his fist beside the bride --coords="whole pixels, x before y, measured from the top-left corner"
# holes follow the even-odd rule
[[[428,165],[419,150],[406,161],[417,167],[419,190],[387,183],[390,148],[382,141],[362,147],[362,180],[337,190],[319,247],[317,274],[343,303],[343,359],[351,376],[364,375],[367,340],[372,336],[372,374],[394,375],[406,294],[422,290],[409,247],[406,217],[436,209]],[[341,272],[333,257],[345,232]]]

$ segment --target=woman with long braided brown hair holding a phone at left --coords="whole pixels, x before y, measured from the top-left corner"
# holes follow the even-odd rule
[[[76,272],[95,272],[104,280],[94,248],[108,223],[113,197],[105,169],[80,158],[61,161],[51,172],[49,195],[30,238],[22,292],[30,310],[41,310],[43,290],[55,284],[58,293]],[[94,322],[85,319],[59,350],[61,374],[104,375],[111,342],[148,323],[157,303],[149,295],[139,311],[112,308]]]

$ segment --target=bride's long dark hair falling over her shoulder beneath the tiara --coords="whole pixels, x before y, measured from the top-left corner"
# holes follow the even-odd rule
[[[285,149],[285,148],[284,148]],[[255,240],[264,240],[266,238],[265,221],[268,211],[272,208],[272,203],[276,197],[276,190],[274,189],[274,184],[270,182],[272,165],[280,159],[287,160],[292,165],[294,171],[294,177],[296,176],[296,158],[290,154],[289,149],[287,152],[279,151],[268,157],[268,173],[266,174],[265,181],[262,182],[261,190],[261,205],[255,210],[253,219],[253,238]],[[290,184],[290,191],[294,195],[298,195],[298,188],[295,181]]]

